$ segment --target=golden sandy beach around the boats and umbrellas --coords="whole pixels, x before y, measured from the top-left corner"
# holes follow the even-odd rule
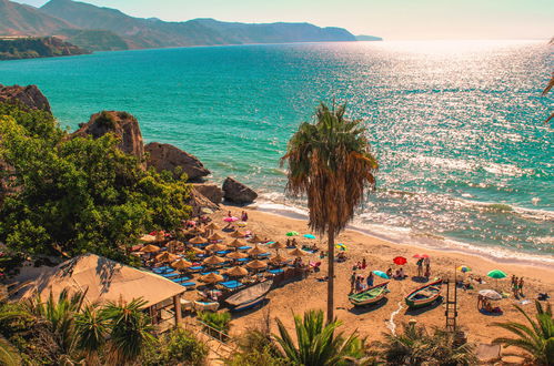
[[[305,221],[261,212],[251,207],[222,206],[222,210],[213,214],[212,217],[215,222],[221,222],[221,218],[229,211],[233,215],[240,216],[242,210],[245,210],[249,214],[248,228],[262,237],[285,242],[286,232],[298,231],[301,234],[310,233]],[[299,242],[309,242],[309,240],[299,238]],[[318,243],[320,247],[325,247],[324,240],[321,244],[319,240],[312,242]],[[470,342],[490,343],[496,336],[508,335],[503,329],[488,326],[493,322],[508,319],[524,321],[524,317],[512,306],[518,302],[513,296],[494,303],[495,306],[500,306],[503,309],[504,314],[501,316],[483,315],[479,312],[477,292],[483,288],[496,288],[495,281],[486,277],[488,271],[498,268],[508,274],[507,278],[501,279],[497,283],[498,289],[503,292],[510,293],[510,276],[514,274],[517,277],[523,276],[525,279],[525,298],[534,299],[538,292],[554,294],[554,268],[545,266],[497,263],[473,254],[422,248],[410,243],[395,244],[356,231],[343,232],[339,236],[338,242],[347,243],[347,261],[335,265],[335,315],[344,323],[342,331],[357,331],[360,335],[367,337],[369,342],[382,339],[383,333],[391,332],[391,317],[396,327],[410,319],[416,319],[420,324],[427,326],[444,327],[444,304],[415,312],[406,311],[404,296],[421,286],[421,284],[412,279],[412,276],[416,274],[416,260],[412,257],[416,253],[426,253],[431,256],[431,278],[445,278],[447,276],[452,278],[455,267],[466,265],[472,268],[471,273],[474,276],[481,276],[486,282],[485,284],[476,285],[475,289],[459,289],[457,322],[461,328],[467,332]],[[389,285],[391,292],[385,303],[375,307],[354,308],[347,299],[352,266],[365,257],[369,265],[365,271],[357,271],[357,274],[363,276],[366,276],[373,270],[386,271],[389,267],[396,270],[397,266],[392,263],[392,258],[399,255],[409,258],[409,263],[403,266],[409,277],[404,281],[391,279]],[[321,261],[318,254],[306,256],[304,260]],[[244,328],[260,324],[268,314],[271,318],[279,317],[283,319],[284,324],[292,329],[292,313],[302,314],[310,308],[324,309],[326,303],[326,283],[318,278],[326,275],[326,258],[323,261],[321,268],[320,273],[311,274],[304,281],[294,282],[272,291],[269,295],[270,302],[264,307],[235,316],[232,322],[231,333],[238,335]],[[459,272],[457,275],[460,277],[463,274]],[[380,283],[379,281],[381,278],[376,277],[375,283]],[[523,307],[532,313],[534,312],[533,303],[523,305]],[[272,322],[272,326],[274,327],[274,322]]]

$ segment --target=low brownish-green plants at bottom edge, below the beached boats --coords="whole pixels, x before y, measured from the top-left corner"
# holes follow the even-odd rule
[[[474,346],[454,340],[452,333],[435,328],[429,334],[424,326],[404,324],[402,333],[385,334],[377,345],[387,365],[475,365]]]

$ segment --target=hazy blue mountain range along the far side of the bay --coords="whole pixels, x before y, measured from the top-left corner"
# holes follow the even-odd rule
[[[167,22],[72,0],[41,8],[0,0],[0,35],[58,35],[92,51],[246,43],[350,42],[342,28],[310,23]]]

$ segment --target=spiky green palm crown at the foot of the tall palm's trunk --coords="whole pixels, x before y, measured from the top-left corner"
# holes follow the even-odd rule
[[[342,324],[333,321],[323,325],[322,311],[309,311],[304,318],[294,315],[298,346],[280,319],[276,319],[280,336],[274,336],[281,345],[282,356],[295,365],[326,366],[341,365],[350,358],[363,356],[363,342],[353,333],[347,338],[335,329]]]

